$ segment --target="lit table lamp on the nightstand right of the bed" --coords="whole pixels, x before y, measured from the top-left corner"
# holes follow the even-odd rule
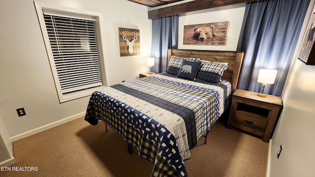
[[[269,91],[267,84],[274,84],[276,80],[277,70],[260,69],[257,82],[261,83],[258,90],[258,96],[266,97]]]

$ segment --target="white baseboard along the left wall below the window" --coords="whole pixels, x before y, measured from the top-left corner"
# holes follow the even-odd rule
[[[77,119],[77,118],[82,118],[83,116],[85,116],[85,113],[86,112],[83,112],[83,113],[80,113],[80,114],[77,114],[77,115],[74,115],[74,116],[71,116],[71,117],[68,117],[68,118],[63,118],[61,120],[58,120],[58,121],[49,123],[47,125],[44,125],[44,126],[41,126],[41,127],[35,128],[35,129],[32,129],[30,131],[21,133],[19,135],[13,136],[13,137],[10,138],[11,142],[20,140],[22,138],[26,138],[28,136],[34,135],[36,133],[39,133],[39,132],[42,132],[42,131],[45,131],[45,130],[48,130],[48,129],[53,128],[55,126],[61,125],[63,123],[66,123],[68,121],[71,121],[71,120],[74,120],[74,119]]]

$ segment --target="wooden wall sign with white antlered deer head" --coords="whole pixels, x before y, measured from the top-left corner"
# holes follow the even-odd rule
[[[140,55],[140,30],[118,28],[120,56]]]

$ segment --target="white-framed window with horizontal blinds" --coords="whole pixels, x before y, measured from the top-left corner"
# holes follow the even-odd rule
[[[96,28],[101,27],[100,15],[34,3],[60,102],[90,95],[95,87],[106,85],[97,36],[101,30]]]

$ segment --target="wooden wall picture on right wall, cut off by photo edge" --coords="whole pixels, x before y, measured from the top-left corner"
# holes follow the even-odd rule
[[[308,26],[298,59],[301,59],[307,65],[315,65],[315,13],[313,13],[311,22]]]

